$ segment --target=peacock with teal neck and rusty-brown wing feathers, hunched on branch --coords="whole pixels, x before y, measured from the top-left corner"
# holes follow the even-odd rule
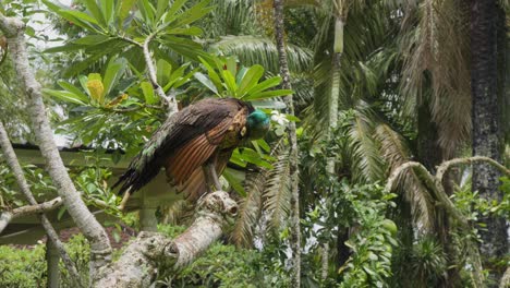
[[[248,103],[234,98],[206,98],[170,117],[150,137],[114,184],[119,193],[133,193],[165,167],[168,180],[191,200],[220,189],[221,175],[233,149],[259,139],[269,118]]]

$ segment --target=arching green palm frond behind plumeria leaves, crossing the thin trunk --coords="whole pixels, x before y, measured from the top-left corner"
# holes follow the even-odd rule
[[[279,72],[276,45],[266,37],[223,36],[209,50],[234,55],[243,65],[260,64],[275,74]],[[291,72],[306,72],[312,63],[312,51],[292,44],[287,45],[287,57]]]

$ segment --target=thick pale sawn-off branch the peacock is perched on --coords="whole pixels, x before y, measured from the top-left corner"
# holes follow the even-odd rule
[[[141,232],[119,261],[99,272],[94,287],[149,287],[158,271],[184,267],[220,238],[222,228],[236,216],[238,204],[227,192],[217,191],[206,195],[197,211],[193,225],[173,240]]]

